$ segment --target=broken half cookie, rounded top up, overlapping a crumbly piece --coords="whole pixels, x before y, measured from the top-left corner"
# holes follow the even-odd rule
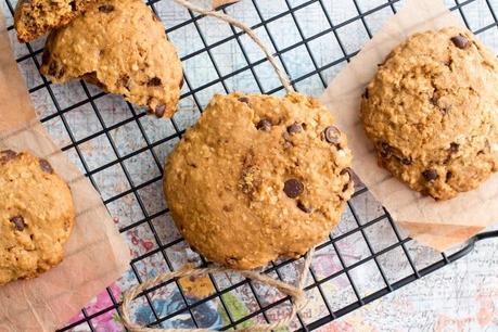
[[[52,31],[41,73],[54,82],[84,78],[158,117],[175,113],[183,81],[175,47],[141,0],[101,0]]]

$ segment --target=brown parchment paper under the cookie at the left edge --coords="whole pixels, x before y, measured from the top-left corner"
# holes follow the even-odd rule
[[[77,217],[62,264],[37,279],[0,286],[1,332],[54,331],[126,271],[129,250],[100,195],[38,122],[0,11],[0,150],[5,149],[47,158],[73,192]]]

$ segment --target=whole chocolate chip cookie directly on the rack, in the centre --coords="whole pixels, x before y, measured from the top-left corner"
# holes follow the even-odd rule
[[[354,191],[350,162],[312,98],[215,95],[168,157],[164,191],[194,251],[252,269],[328,237]]]

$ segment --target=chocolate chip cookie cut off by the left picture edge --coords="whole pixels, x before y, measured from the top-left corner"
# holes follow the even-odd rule
[[[74,218],[69,188],[49,162],[0,152],[0,284],[58,265]]]

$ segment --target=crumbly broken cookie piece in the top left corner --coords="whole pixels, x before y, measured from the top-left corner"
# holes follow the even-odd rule
[[[14,27],[21,42],[35,40],[80,15],[97,0],[20,0]]]

